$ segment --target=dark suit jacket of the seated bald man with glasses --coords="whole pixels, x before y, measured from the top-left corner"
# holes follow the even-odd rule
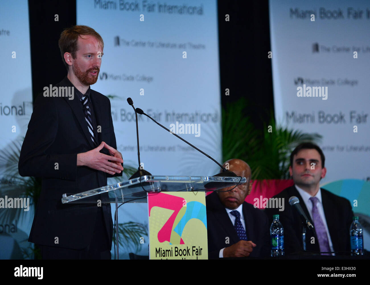
[[[206,209],[208,258],[218,258],[220,250],[237,243],[239,237],[217,193],[211,193],[206,197]],[[246,202],[243,203],[243,216],[247,238],[256,244],[249,256],[269,256],[268,217],[262,210]],[[227,237],[229,237],[229,244],[225,243]]]

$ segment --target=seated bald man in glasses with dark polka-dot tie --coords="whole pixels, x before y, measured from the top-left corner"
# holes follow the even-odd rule
[[[229,170],[250,181],[248,164],[231,159],[223,166],[227,163]],[[262,210],[244,202],[251,189],[249,181],[206,197],[208,258],[269,255],[268,218]]]

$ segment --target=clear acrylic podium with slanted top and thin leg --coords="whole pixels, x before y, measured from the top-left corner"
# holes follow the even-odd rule
[[[118,258],[118,203],[147,203],[147,192],[215,191],[246,182],[246,178],[240,176],[141,176],[81,193],[65,193],[62,203],[97,204],[96,195],[108,193],[107,198],[101,198],[101,203],[115,204],[115,240]]]

